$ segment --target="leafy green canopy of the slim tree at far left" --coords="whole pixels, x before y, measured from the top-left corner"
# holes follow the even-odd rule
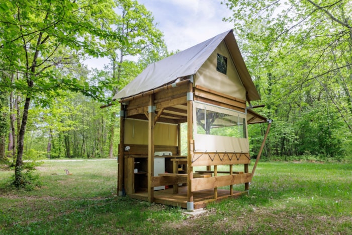
[[[43,105],[48,98],[60,95],[61,90],[79,91],[101,99],[99,87],[79,81],[66,65],[77,64],[85,53],[104,55],[99,39],[119,40],[116,33],[101,29],[91,20],[91,17],[98,19],[95,12],[103,7],[104,11],[112,11],[113,3],[42,1],[34,7],[36,4],[22,0],[4,4],[9,11],[0,14],[3,26],[0,58],[5,73],[0,88],[16,89],[39,98]],[[15,82],[7,79],[14,71],[24,79]]]

